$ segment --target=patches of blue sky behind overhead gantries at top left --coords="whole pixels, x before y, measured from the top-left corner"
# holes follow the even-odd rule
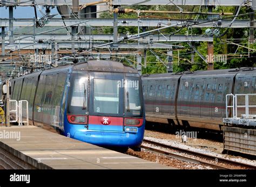
[[[45,12],[45,8],[43,9]],[[57,9],[51,9],[51,15],[58,13]],[[37,17],[41,17],[42,14],[37,10]],[[33,18],[35,17],[34,8],[31,6],[16,6],[14,8],[14,18]],[[0,18],[9,18],[9,10],[5,7],[0,8]]]

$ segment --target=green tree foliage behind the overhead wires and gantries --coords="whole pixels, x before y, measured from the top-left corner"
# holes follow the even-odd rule
[[[180,6],[183,8],[183,11],[201,11],[201,12],[207,12],[208,9],[205,6]],[[157,6],[142,6],[142,5],[136,5],[131,7],[125,7],[125,8],[132,8],[134,10],[156,10]],[[166,11],[179,11],[179,9],[176,6],[158,6],[158,10],[166,10]],[[237,8],[234,6],[217,6],[216,8],[213,8],[213,12],[233,12]],[[245,14],[243,16],[239,16],[236,19],[249,19],[248,13],[250,10],[248,10],[246,7],[242,7],[239,15]],[[206,15],[181,15],[181,14],[163,14],[163,13],[140,13],[140,16],[145,17],[165,17],[169,19],[205,19],[207,22],[207,16]],[[104,12],[100,15],[102,18],[112,18],[113,15],[109,12]],[[119,18],[137,18],[136,13],[128,13],[123,15],[118,15]],[[233,16],[222,16],[225,19],[233,19]],[[154,28],[146,28],[146,30],[151,30]],[[161,30],[161,33],[163,34],[205,34],[205,30],[207,28],[191,28],[191,27],[169,27],[168,29]],[[250,47],[250,49],[256,50],[256,44],[250,44],[248,45],[248,37],[250,30],[249,28],[245,29],[220,29],[220,34],[224,34],[221,38],[214,37],[213,45],[214,45],[214,55],[226,55],[227,61],[221,62],[216,61],[214,62],[214,69],[224,69],[224,68],[236,68],[236,67],[245,67],[245,66],[256,66],[255,64],[255,56],[256,53],[254,51],[250,51],[250,54],[248,53],[248,49],[246,47]],[[97,30],[98,31],[98,30]],[[99,32],[99,31],[98,31]],[[99,33],[112,33],[113,27],[105,27],[104,29],[101,29]],[[142,28],[140,28],[140,32],[142,31]],[[120,34],[136,34],[138,33],[138,27],[134,26],[119,26],[118,27],[118,33]],[[153,33],[153,34],[160,34],[161,33]],[[247,33],[247,34],[246,34]],[[207,36],[206,36],[207,37]],[[130,41],[129,41],[130,42]],[[241,46],[235,45],[239,44]],[[170,44],[170,43],[166,43]],[[190,45],[187,43],[173,43],[173,45],[180,45],[184,46],[183,49],[173,47],[173,70],[174,72],[183,72],[183,71],[198,71],[198,70],[207,70],[207,64],[205,61],[198,55],[198,53],[194,53],[194,63],[191,63],[191,54],[192,49]],[[192,45],[196,47],[198,52],[203,57],[206,57],[207,55],[207,42],[193,42]],[[244,46],[244,47],[242,47]],[[179,55],[178,55],[179,50]],[[167,55],[167,51],[161,51],[159,52],[158,49],[155,49],[155,52],[162,56],[161,59],[165,60]],[[165,55],[163,56],[163,53]],[[131,58],[131,57],[126,57]],[[144,61],[144,59],[143,59]],[[156,57],[154,57],[149,51],[147,51],[147,59],[148,62],[146,67],[143,66],[142,71],[143,74],[153,74],[153,73],[165,73],[166,72],[166,65],[163,63],[157,62]],[[157,63],[156,63],[157,62]]]

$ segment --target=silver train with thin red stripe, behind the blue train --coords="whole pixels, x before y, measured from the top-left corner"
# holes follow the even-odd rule
[[[144,75],[142,80],[146,120],[185,128],[220,131],[226,94],[256,93],[254,67]]]

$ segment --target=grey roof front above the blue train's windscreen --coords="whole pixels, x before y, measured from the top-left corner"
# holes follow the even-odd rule
[[[87,63],[73,65],[73,70],[100,71],[100,72],[118,72],[118,73],[138,73],[132,67],[126,66],[117,61],[111,60],[90,60]]]

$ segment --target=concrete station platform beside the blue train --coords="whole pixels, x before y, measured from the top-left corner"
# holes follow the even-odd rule
[[[175,169],[35,126],[0,127],[1,169]]]

